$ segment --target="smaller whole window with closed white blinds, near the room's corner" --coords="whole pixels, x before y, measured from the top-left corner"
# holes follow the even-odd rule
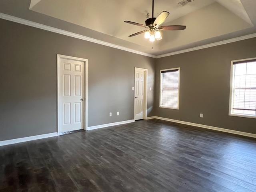
[[[179,109],[180,68],[160,70],[160,106]]]

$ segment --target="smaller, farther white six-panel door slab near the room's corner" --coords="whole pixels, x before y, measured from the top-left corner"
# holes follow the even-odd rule
[[[135,104],[134,104],[134,119],[139,120],[144,118],[144,75],[145,70],[135,68]]]

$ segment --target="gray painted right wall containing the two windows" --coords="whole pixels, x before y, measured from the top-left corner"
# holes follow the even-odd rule
[[[253,57],[256,38],[158,58],[154,115],[256,134],[256,119],[228,115],[230,62]],[[176,67],[180,67],[179,110],[159,108],[160,70]]]

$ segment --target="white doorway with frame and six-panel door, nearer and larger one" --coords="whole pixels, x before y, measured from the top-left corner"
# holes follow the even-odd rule
[[[57,55],[58,134],[87,129],[88,60]]]

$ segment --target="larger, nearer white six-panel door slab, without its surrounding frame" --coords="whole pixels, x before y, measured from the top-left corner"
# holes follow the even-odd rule
[[[60,132],[83,129],[84,62],[60,59]]]

